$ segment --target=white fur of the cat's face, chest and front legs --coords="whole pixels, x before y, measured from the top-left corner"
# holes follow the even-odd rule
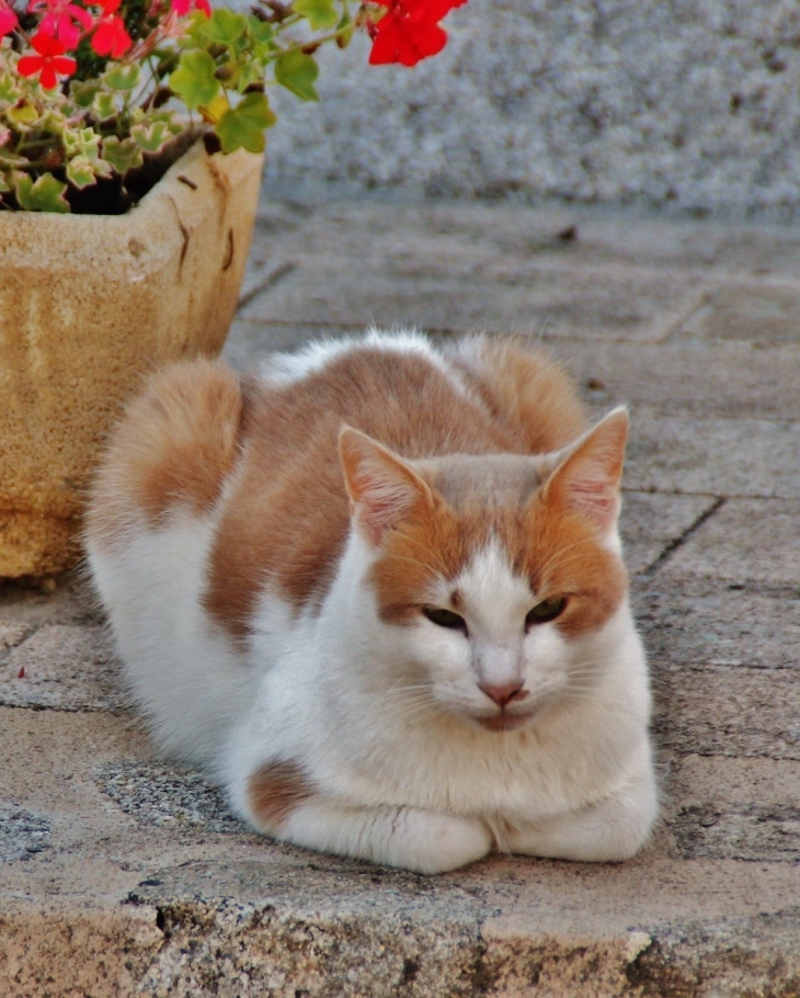
[[[283,830],[298,844],[424,873],[462,865],[492,839],[537,855],[631,855],[656,796],[647,670],[628,606],[591,639],[570,645],[553,624],[522,638],[530,597],[507,568],[503,578],[496,551],[479,556],[459,588],[483,611],[482,660],[494,649],[502,668],[521,669],[537,706],[529,727],[488,732],[476,718],[496,710],[477,687],[473,642],[423,619],[410,633],[382,624],[354,585],[370,562],[354,533],[319,615],[282,645],[231,732],[224,772],[240,814],[254,818],[250,776],[292,759],[324,787]],[[571,695],[570,674],[583,677],[586,662],[594,678]]]

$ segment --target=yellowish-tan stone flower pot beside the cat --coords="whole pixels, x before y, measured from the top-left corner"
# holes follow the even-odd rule
[[[125,215],[0,214],[0,577],[79,559],[122,405],[155,367],[221,350],[261,160],[197,144]]]

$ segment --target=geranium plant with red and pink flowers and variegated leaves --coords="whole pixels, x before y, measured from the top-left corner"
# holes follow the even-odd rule
[[[0,208],[124,212],[202,134],[264,149],[270,87],[318,100],[321,45],[413,66],[466,0],[0,0]]]

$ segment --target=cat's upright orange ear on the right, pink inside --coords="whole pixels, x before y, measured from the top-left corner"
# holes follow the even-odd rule
[[[576,443],[555,455],[544,499],[572,509],[603,534],[617,525],[628,412],[614,409]]]

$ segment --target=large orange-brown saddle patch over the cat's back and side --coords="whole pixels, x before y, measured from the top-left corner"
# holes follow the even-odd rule
[[[204,605],[239,642],[265,583],[298,611],[328,591],[350,530],[344,423],[405,457],[519,444],[424,358],[364,345],[289,385],[243,385],[242,473],[217,532]]]

